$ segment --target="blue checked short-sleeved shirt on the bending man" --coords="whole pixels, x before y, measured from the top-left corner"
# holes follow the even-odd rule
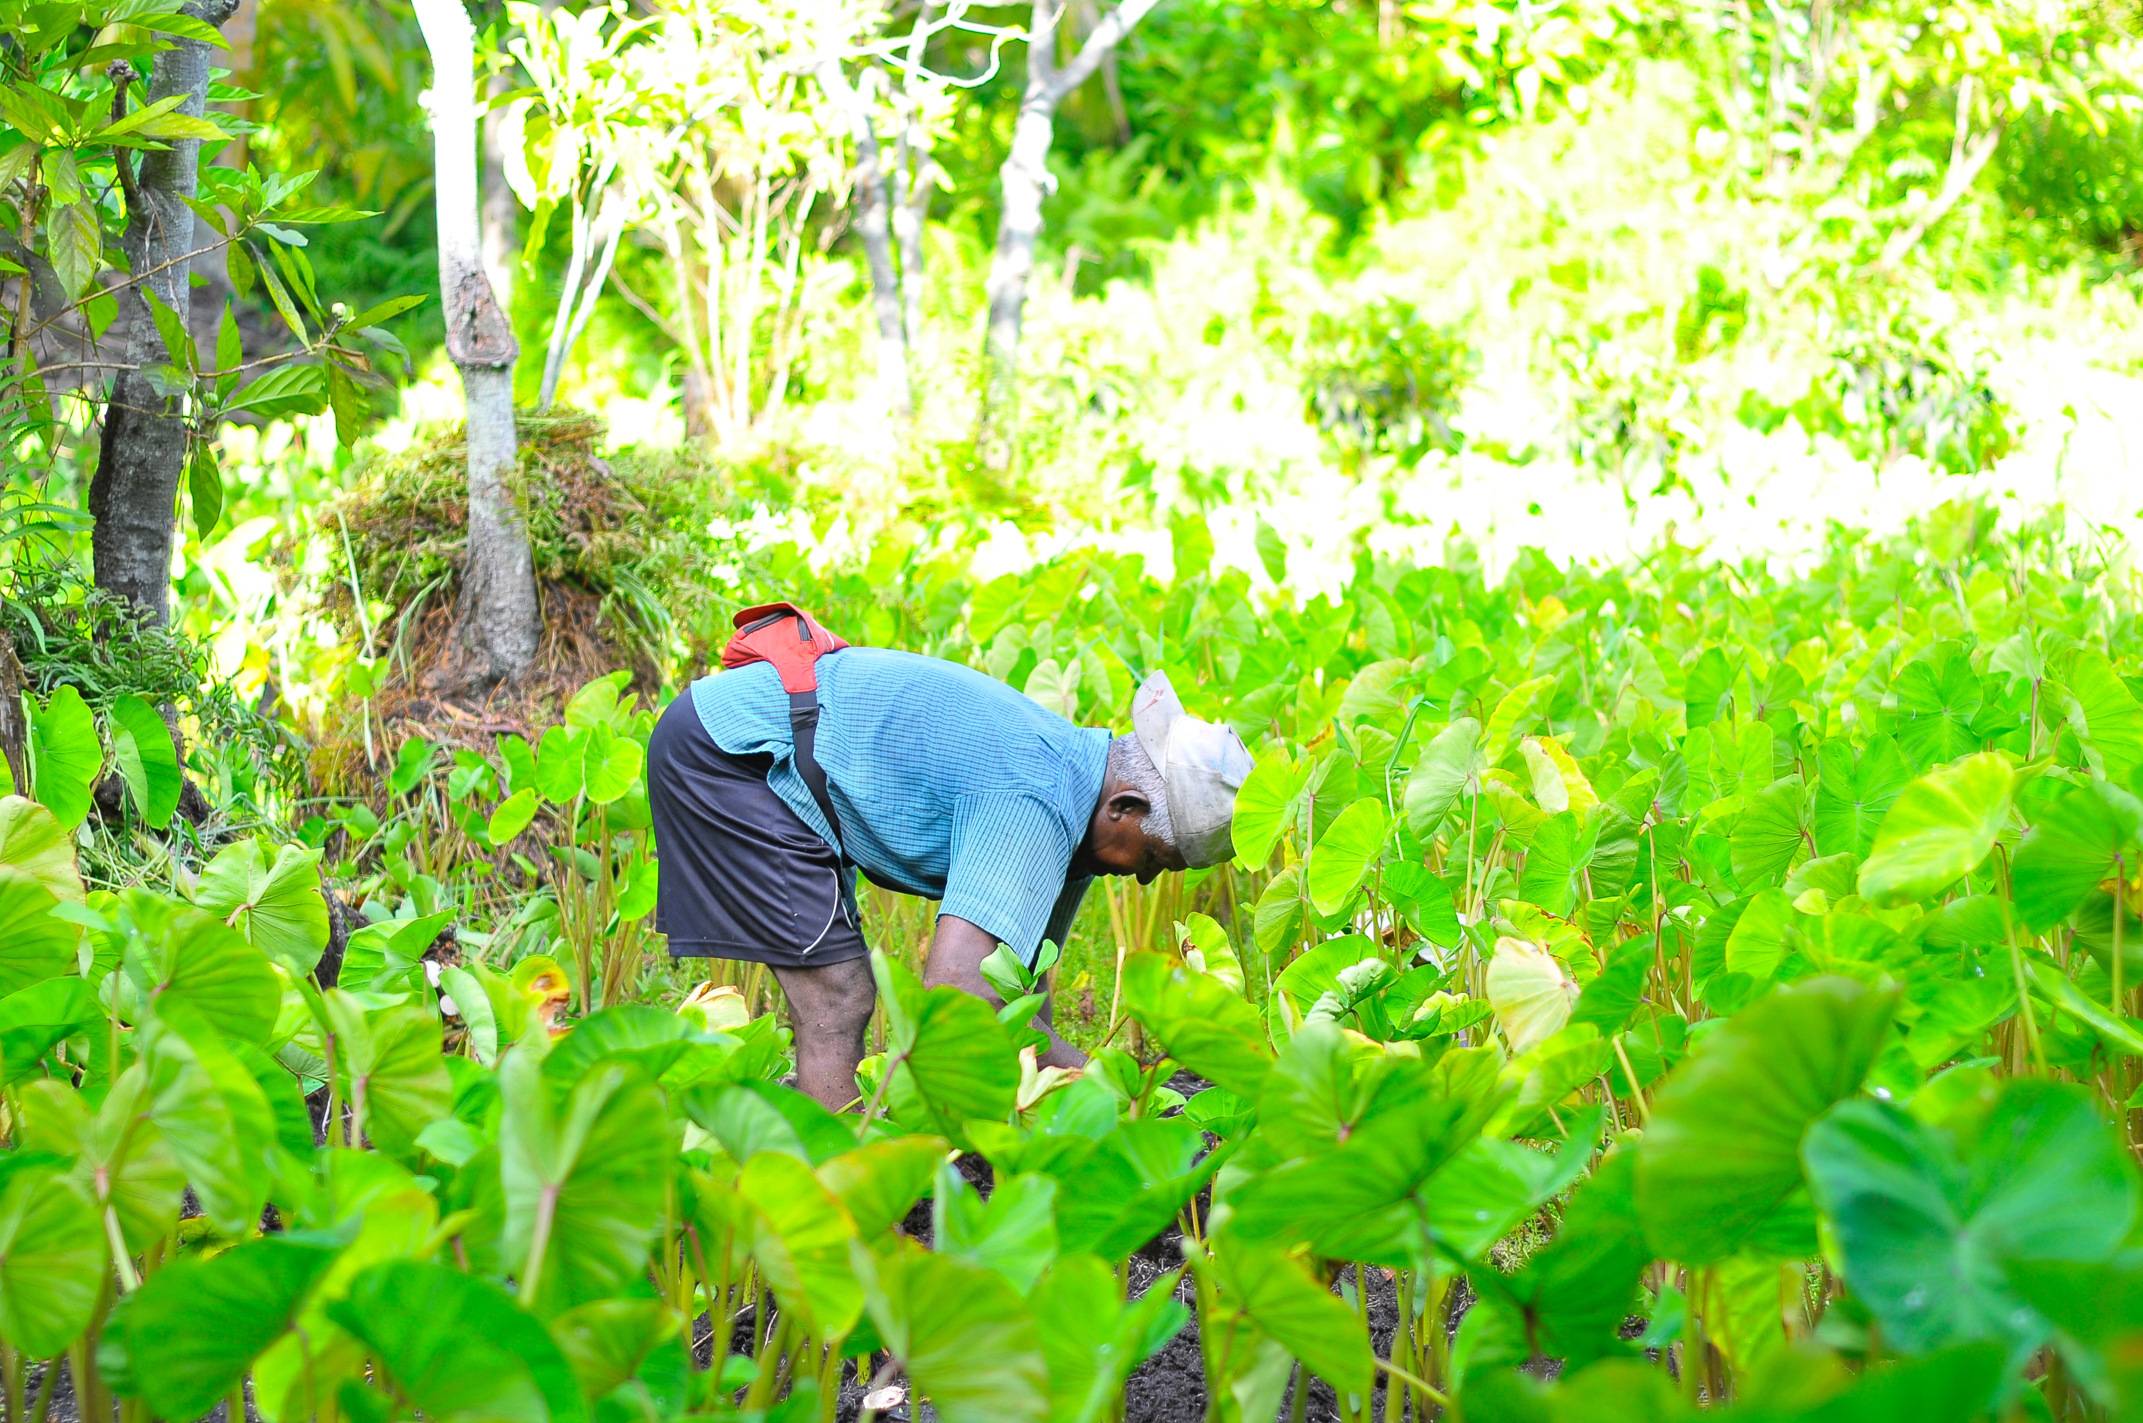
[[[692,705],[729,754],[771,754],[767,784],[831,844],[774,666],[701,677]],[[1091,883],[1072,874],[1072,853],[1102,797],[1108,739],[956,662],[881,647],[819,660],[814,752],[849,859],[1029,962],[1044,939],[1063,945]]]

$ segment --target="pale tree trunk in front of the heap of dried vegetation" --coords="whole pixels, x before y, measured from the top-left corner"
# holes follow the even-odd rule
[[[469,557],[461,570],[454,649],[437,679],[489,690],[536,662],[542,609],[527,527],[506,484],[516,459],[514,360],[521,347],[484,274],[476,174],[476,28],[461,0],[416,0],[431,49],[431,129],[439,199],[439,291],[446,354],[469,411]]]

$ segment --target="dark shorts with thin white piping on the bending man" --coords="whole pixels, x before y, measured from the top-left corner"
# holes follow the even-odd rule
[[[690,692],[656,722],[656,930],[677,958],[819,969],[870,954],[831,847],[767,789],[771,763],[716,746]]]

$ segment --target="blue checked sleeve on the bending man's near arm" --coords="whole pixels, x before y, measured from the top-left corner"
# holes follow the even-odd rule
[[[1033,962],[1065,898],[1072,849],[1063,819],[1035,797],[960,797],[939,913],[996,934],[999,943]]]

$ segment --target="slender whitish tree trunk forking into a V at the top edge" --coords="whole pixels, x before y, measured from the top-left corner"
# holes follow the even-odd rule
[[[1035,240],[1041,236],[1041,199],[1048,197],[1050,144],[1056,139],[1056,105],[1093,77],[1132,28],[1157,0],[1123,0],[1102,17],[1078,56],[1056,69],[1056,24],[1065,0],[1033,0],[1026,36],[1026,92],[1011,129],[1011,152],[999,169],[1005,189],[996,223],[996,253],[990,257],[990,330],[984,339],[981,422],[975,448],[990,469],[1011,467],[1011,435],[1018,418],[1020,324],[1026,315],[1026,285],[1035,274]]]

